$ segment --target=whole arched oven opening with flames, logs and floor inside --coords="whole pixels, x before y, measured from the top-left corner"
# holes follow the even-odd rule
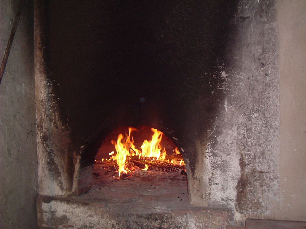
[[[164,133],[148,126],[119,127],[108,134],[95,156],[86,195],[103,196],[109,202],[139,199],[137,208],[147,210],[153,203],[163,209],[186,205],[186,175],[182,154]]]

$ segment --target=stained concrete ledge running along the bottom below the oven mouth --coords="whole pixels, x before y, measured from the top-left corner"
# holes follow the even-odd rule
[[[226,228],[232,220],[228,209],[185,209],[151,211],[121,208],[101,199],[81,197],[38,196],[37,213],[40,228]],[[148,203],[149,204],[149,203]],[[144,210],[144,211],[141,211]]]

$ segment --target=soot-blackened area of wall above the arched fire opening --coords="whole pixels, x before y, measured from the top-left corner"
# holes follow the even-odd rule
[[[207,136],[224,97],[225,48],[236,5],[47,2],[43,67],[52,87],[50,109],[73,142],[66,140],[67,163],[73,166],[71,151],[86,149],[96,136],[122,125],[148,125],[178,139],[194,174],[195,142]],[[50,142],[46,135],[42,141]],[[75,173],[62,167],[67,179]]]

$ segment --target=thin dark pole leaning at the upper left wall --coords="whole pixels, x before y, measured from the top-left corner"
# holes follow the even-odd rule
[[[6,66],[6,63],[7,63],[7,59],[9,58],[9,51],[11,50],[12,43],[13,43],[13,40],[14,40],[14,37],[15,37],[15,32],[16,32],[16,29],[17,29],[17,25],[18,25],[18,22],[19,22],[19,19],[20,19],[20,16],[21,16],[23,3],[24,3],[24,0],[20,0],[19,5],[18,5],[18,9],[17,9],[17,13],[16,13],[16,16],[15,16],[15,20],[14,20],[14,23],[13,23],[11,35],[9,36],[9,41],[7,43],[6,50],[5,50],[3,60],[2,60],[2,63],[1,63],[0,85],[1,85],[1,81],[2,81],[2,76],[4,74],[4,69],[5,69],[5,66]]]

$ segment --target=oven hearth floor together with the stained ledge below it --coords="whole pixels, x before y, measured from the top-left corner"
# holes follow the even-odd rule
[[[101,166],[94,166],[92,189],[84,195],[38,197],[40,228],[213,229],[226,228],[232,220],[228,209],[190,205],[186,176],[138,169],[118,180],[115,171]]]

